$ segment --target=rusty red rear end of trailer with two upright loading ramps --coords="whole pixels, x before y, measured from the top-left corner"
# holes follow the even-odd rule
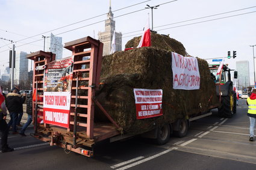
[[[64,47],[71,50],[74,56],[69,128],[45,123],[37,124],[38,118],[43,119],[42,115],[38,115],[38,112],[43,112],[43,102],[37,99],[43,97],[44,72],[36,70],[36,67],[42,67],[54,61],[55,54],[40,50],[27,56],[28,59],[34,61],[33,89],[36,89],[37,96],[36,102],[33,101],[33,136],[50,142],[50,145],[58,145],[65,150],[91,157],[93,156],[93,145],[96,142],[120,135],[120,127],[95,97],[95,91],[99,89],[100,84],[103,43],[91,37],[84,37],[65,43]],[[87,95],[79,96],[78,90]],[[87,104],[78,104],[78,100],[83,100],[83,103]],[[111,123],[94,123],[95,105],[101,109]],[[86,112],[78,112],[78,108],[84,109]]]

